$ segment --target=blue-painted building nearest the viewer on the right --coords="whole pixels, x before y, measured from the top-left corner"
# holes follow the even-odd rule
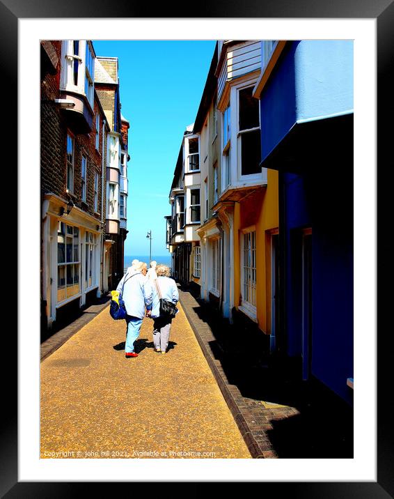
[[[352,404],[353,42],[267,45],[254,95],[279,175],[276,348]]]

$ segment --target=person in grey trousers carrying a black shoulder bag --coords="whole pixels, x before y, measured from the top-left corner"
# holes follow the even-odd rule
[[[174,279],[171,279],[170,269],[166,265],[156,266],[157,279],[151,281],[152,286],[152,311],[148,316],[154,319],[153,344],[155,352],[166,353],[168,340],[170,338],[172,318],[160,316],[161,298],[173,302],[175,305],[179,300],[179,293]]]

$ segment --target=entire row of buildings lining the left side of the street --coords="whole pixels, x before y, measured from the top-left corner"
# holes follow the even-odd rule
[[[45,337],[123,275],[129,123],[117,59],[100,62],[90,40],[44,40],[40,50]]]

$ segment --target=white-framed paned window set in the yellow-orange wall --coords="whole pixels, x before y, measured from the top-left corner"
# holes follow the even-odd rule
[[[254,234],[254,238],[252,236]],[[253,259],[251,262],[245,261],[245,238],[248,238],[249,241],[253,242],[254,239],[254,249],[251,251],[254,252],[254,263],[255,267],[253,267]],[[249,266],[246,266],[246,263],[250,263]],[[251,284],[246,284],[245,282],[245,269],[248,270],[248,281]],[[255,279],[253,281],[253,270]],[[251,277],[250,277],[251,276]],[[245,293],[245,286],[248,287],[247,292]],[[251,296],[249,297],[249,293]],[[247,296],[246,296],[247,295]],[[248,300],[251,298],[251,301]],[[254,302],[254,303],[253,303]],[[257,233],[255,226],[248,227],[246,229],[242,229],[241,231],[241,305],[239,309],[248,315],[253,321],[257,321]]]

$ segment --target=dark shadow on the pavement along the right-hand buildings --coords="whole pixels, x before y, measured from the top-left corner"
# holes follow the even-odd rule
[[[299,360],[269,354],[269,336],[235,313],[234,323],[223,319],[202,300],[193,307],[212,330],[210,348],[221,362],[228,382],[242,397],[265,401],[269,414],[269,440],[281,458],[352,458],[353,408],[320,381],[301,379]],[[250,403],[250,402],[249,402]],[[246,401],[248,404],[248,401]],[[290,406],[298,415],[275,417],[271,404]],[[272,410],[275,407],[272,406]]]

